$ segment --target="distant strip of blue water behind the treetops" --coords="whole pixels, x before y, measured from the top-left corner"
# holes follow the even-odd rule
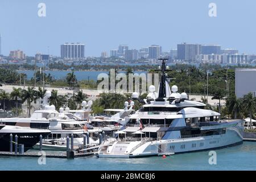
[[[32,77],[34,77],[34,71],[28,70],[28,71],[18,71],[19,73],[25,73],[27,74],[27,79],[30,80]],[[65,78],[68,73],[71,73],[71,71],[44,71],[47,75],[48,73],[51,74],[51,76],[55,77],[56,79]],[[97,80],[97,77],[100,73],[106,73],[108,74],[108,71],[74,71],[77,80]],[[125,73],[125,72],[120,72]],[[147,72],[135,72],[138,74],[141,73],[147,73]]]

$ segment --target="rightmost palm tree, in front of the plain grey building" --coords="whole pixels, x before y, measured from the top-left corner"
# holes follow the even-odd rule
[[[256,108],[256,97],[253,96],[253,93],[248,93],[247,95],[243,96],[243,108],[249,111],[250,115],[250,129],[252,129],[252,122],[251,118],[253,113],[255,112]]]

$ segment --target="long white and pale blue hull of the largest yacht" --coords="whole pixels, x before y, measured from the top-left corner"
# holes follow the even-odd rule
[[[243,137],[237,127],[228,127],[225,134],[195,138],[158,140],[154,142],[115,142],[105,151],[99,150],[99,158],[134,158],[172,155],[184,152],[213,150],[241,144]]]

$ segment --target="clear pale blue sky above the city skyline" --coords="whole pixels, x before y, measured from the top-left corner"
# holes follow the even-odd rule
[[[38,16],[39,3],[46,16]],[[209,3],[216,4],[216,17],[208,14]],[[255,0],[1,0],[2,54],[60,56],[65,42],[84,43],[85,56],[109,54],[119,44],[170,51],[181,42],[256,53],[255,7]]]

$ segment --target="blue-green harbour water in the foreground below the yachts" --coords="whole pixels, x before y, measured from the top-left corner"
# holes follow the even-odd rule
[[[75,159],[0,157],[0,170],[255,170],[256,142],[216,150],[217,164],[208,163],[208,151],[137,159],[104,159],[95,156]]]

